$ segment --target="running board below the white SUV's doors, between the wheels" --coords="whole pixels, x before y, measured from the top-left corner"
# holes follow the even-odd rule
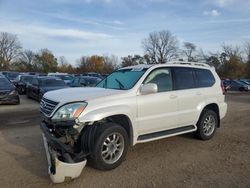
[[[178,127],[178,128],[174,128],[174,129],[165,130],[165,131],[159,131],[159,132],[144,134],[144,135],[140,135],[137,140],[138,141],[140,141],[140,140],[149,140],[149,139],[153,139],[153,138],[157,138],[157,137],[174,135],[174,134],[177,134],[177,133],[182,133],[182,132],[186,132],[186,131],[195,130],[195,128],[196,127],[194,125],[188,125],[188,126],[185,126],[185,127]]]

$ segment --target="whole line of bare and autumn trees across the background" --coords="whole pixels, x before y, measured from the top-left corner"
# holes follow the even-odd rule
[[[191,42],[184,42],[182,49],[178,40],[170,31],[150,33],[142,41],[145,55],[128,55],[121,57],[111,55],[82,56],[77,67],[72,66],[65,57],[59,57],[48,49],[38,52],[22,50],[16,35],[0,33],[0,71],[16,70],[21,72],[97,72],[109,74],[119,67],[138,64],[167,63],[177,57],[187,61],[199,61],[214,66],[222,78],[250,78],[250,40],[242,46],[222,44],[217,53],[197,50]]]

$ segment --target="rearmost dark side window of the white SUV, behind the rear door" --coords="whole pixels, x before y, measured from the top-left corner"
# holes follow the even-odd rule
[[[195,69],[197,77],[197,87],[211,87],[215,83],[215,79],[211,71],[206,69]]]

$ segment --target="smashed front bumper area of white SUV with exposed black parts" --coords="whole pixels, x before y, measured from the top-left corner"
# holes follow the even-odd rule
[[[40,127],[51,180],[62,183],[79,177],[87,163],[96,126],[45,118]]]

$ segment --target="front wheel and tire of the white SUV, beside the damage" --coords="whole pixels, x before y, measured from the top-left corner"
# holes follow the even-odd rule
[[[115,123],[100,125],[88,158],[90,165],[99,170],[112,170],[118,167],[126,157],[128,143],[128,134],[122,126]]]

